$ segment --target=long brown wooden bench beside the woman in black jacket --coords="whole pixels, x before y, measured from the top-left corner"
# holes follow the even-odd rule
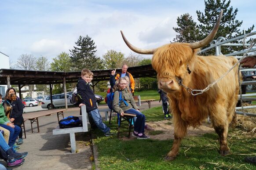
[[[31,130],[33,133],[33,123],[37,123],[37,132],[40,132],[39,129],[39,121],[38,118],[42,117],[42,116],[50,116],[51,114],[55,114],[57,113],[57,117],[58,117],[58,122],[59,122],[59,116],[62,116],[64,118],[63,112],[65,110],[63,109],[52,109],[52,110],[44,110],[44,111],[39,111],[39,112],[30,112],[30,113],[24,113],[23,116],[23,131],[24,131],[24,136],[26,138],[26,128],[25,128],[25,122],[27,120],[30,120],[30,124],[31,124]]]

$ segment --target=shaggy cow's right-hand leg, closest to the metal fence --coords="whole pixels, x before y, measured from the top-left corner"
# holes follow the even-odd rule
[[[211,116],[212,125],[219,135],[219,152],[222,156],[230,153],[230,149],[227,146],[227,132],[229,122],[227,120],[227,112],[223,108],[218,108]]]

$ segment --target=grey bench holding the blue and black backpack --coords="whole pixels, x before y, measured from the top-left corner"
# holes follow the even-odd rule
[[[80,117],[80,119],[82,120],[82,123],[83,123],[82,127],[71,127],[71,128],[61,129],[61,128],[59,128],[59,126],[57,126],[55,128],[55,130],[52,130],[53,135],[55,135],[55,134],[69,134],[70,145],[71,145],[71,153],[75,153],[76,149],[77,149],[75,133],[88,132],[86,106],[82,105],[81,110],[82,110],[82,117]]]

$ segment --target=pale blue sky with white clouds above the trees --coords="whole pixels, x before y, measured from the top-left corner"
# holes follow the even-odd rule
[[[238,8],[240,29],[256,26],[255,0],[231,0],[230,6]],[[128,56],[132,51],[120,30],[136,47],[159,47],[176,36],[172,28],[180,15],[189,13],[198,22],[197,10],[204,12],[204,0],[1,0],[0,52],[11,65],[21,54],[51,62],[61,52],[70,54],[79,36],[88,35],[97,56],[108,50]]]

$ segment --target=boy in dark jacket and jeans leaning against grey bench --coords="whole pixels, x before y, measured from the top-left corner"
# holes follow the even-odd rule
[[[77,93],[81,98],[81,105],[86,105],[86,111],[88,113],[88,117],[91,116],[96,126],[99,130],[102,130],[106,136],[110,136],[116,134],[109,127],[106,126],[102,122],[102,117],[99,114],[99,110],[97,107],[96,98],[94,92],[91,90],[90,82],[93,78],[93,73],[88,69],[83,69],[81,71],[81,77],[79,77],[77,82]]]

